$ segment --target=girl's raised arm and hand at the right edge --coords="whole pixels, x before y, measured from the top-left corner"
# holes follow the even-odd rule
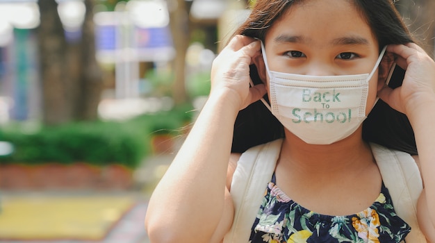
[[[418,202],[422,231],[435,242],[435,62],[418,45],[391,45],[387,51],[397,54],[397,65],[406,69],[401,87],[384,87],[378,96],[389,106],[407,115],[414,134],[425,184]]]

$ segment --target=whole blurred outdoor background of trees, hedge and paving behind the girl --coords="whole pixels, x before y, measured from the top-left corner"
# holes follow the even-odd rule
[[[148,242],[147,198],[255,0],[0,0],[0,242]],[[435,1],[395,1],[434,57]]]

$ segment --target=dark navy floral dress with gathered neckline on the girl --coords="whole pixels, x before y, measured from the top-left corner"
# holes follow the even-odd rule
[[[403,242],[410,226],[395,214],[382,183],[375,203],[354,215],[320,215],[303,208],[282,192],[275,175],[265,192],[249,242]]]

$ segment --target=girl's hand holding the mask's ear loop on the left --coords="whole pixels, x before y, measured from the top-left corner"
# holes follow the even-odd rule
[[[236,35],[213,61],[211,69],[211,94],[228,92],[236,101],[234,106],[242,110],[266,93],[265,85],[249,88],[251,78],[249,65],[261,54],[260,41],[251,37]]]

